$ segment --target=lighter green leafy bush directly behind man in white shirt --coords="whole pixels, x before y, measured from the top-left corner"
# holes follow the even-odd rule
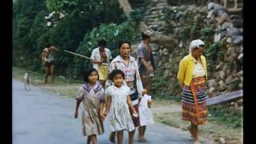
[[[108,42],[107,48],[110,49],[112,57],[118,55],[117,42],[121,40],[134,41],[136,35],[135,22],[126,21],[120,25],[110,23],[108,25],[102,24],[95,27],[89,34],[86,34],[83,41],[78,46],[76,52],[90,57],[90,54],[94,48],[98,47],[98,40],[105,39]],[[90,61],[75,57],[74,62],[78,63],[79,69],[77,74],[82,74],[83,70],[87,69],[90,65]]]

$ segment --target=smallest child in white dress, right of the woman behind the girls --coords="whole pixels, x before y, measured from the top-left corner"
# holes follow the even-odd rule
[[[139,121],[140,126],[138,127],[138,141],[139,142],[146,142],[146,139],[144,138],[146,126],[153,125],[154,124],[154,118],[153,114],[151,114],[150,111],[150,105],[153,102],[153,99],[151,99],[150,95],[147,95],[146,89],[142,92],[143,96],[141,101],[138,104],[138,114],[139,114]]]

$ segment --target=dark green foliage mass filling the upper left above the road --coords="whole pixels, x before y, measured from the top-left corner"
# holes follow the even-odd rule
[[[104,23],[107,25],[109,22],[118,24],[128,19],[122,17],[122,9],[116,0],[47,0],[42,2],[19,0],[14,2],[13,7],[14,65],[43,70],[40,54],[42,49],[50,44],[60,50],[54,54],[57,73],[71,74],[82,67],[74,63],[76,61],[73,61],[73,55],[66,54],[62,50],[76,51],[85,35],[89,34],[95,26],[104,25]],[[65,10],[65,18],[57,18],[55,26],[46,26],[45,17],[53,10],[56,13]],[[134,12],[134,19],[137,18],[136,14],[138,12]],[[130,29],[134,25],[126,23],[123,26]],[[30,61],[31,59],[33,61]]]

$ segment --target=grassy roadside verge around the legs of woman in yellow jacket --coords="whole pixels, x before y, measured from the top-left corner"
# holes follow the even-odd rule
[[[162,104],[161,104],[162,103]],[[173,126],[181,130],[187,131],[186,127],[190,122],[182,120],[182,106],[181,102],[176,101],[154,101],[151,111],[154,115],[154,121],[161,122],[166,126]],[[179,105],[175,110],[161,110],[158,106],[174,107]],[[179,108],[179,109],[178,109]],[[154,110],[156,109],[156,110]],[[230,110],[227,106],[216,105],[208,106],[209,116],[208,122],[205,125],[198,126],[199,136],[210,138],[218,142],[219,138],[224,138],[227,143],[241,143],[243,138],[243,119],[242,110]]]

